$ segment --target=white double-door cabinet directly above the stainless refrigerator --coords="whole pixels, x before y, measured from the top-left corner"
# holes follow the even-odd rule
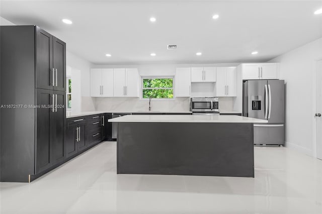
[[[278,79],[278,63],[243,64],[243,79]]]

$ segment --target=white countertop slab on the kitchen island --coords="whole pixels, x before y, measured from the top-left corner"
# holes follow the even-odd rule
[[[108,122],[135,123],[268,123],[266,120],[234,115],[127,115]]]

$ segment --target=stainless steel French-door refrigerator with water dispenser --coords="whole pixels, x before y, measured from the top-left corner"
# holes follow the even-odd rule
[[[284,145],[284,80],[248,80],[243,87],[243,116],[268,120],[254,124],[254,144]]]

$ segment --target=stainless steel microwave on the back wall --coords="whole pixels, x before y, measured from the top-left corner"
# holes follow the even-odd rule
[[[191,97],[191,112],[219,112],[218,97]]]

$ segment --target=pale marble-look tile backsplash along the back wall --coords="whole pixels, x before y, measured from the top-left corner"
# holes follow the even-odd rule
[[[148,111],[148,100],[138,97],[83,97],[82,111]],[[190,98],[177,97],[173,100],[152,100],[152,111],[189,111]],[[219,97],[219,112],[232,111],[233,98]]]

